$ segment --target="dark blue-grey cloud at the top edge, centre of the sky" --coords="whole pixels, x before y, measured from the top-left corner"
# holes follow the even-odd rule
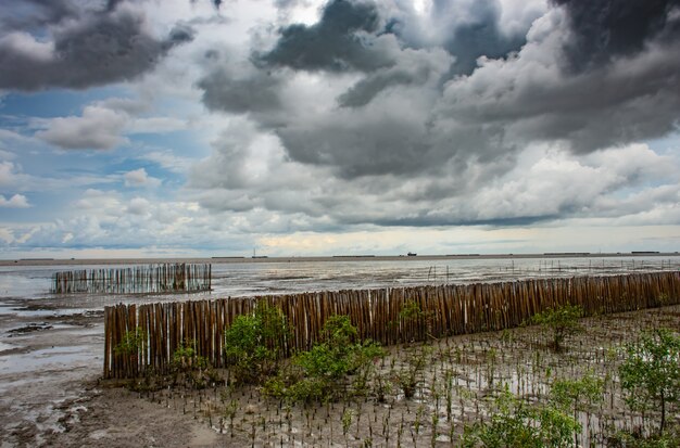
[[[332,0],[317,24],[281,29],[276,47],[256,57],[266,65],[294,69],[374,71],[391,64],[389,55],[372,43],[379,24],[374,3]]]

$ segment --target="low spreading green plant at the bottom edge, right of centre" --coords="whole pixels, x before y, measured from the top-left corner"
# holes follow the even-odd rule
[[[461,446],[562,448],[571,446],[571,435],[581,431],[581,425],[558,408],[529,405],[507,389],[495,398],[494,408],[489,421],[464,427]]]

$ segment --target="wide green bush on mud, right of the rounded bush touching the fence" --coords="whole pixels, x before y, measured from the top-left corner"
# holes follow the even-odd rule
[[[322,342],[298,354],[279,375],[265,383],[268,395],[291,401],[333,401],[348,391],[348,377],[367,379],[373,361],[385,350],[370,341],[357,341],[356,328],[348,316],[330,317],[322,330]],[[360,387],[361,388],[361,387]]]

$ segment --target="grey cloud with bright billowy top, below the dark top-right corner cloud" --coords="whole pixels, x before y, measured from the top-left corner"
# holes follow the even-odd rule
[[[474,85],[449,87],[440,118],[493,124],[511,141],[567,142],[578,153],[659,138],[678,129],[680,95],[670,92],[680,91],[679,52],[680,41],[659,44],[580,74],[562,74],[557,60],[551,67],[521,57],[491,64]]]

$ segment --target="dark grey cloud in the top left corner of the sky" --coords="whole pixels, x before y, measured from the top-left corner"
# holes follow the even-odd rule
[[[53,46],[26,34],[0,38],[0,88],[83,89],[129,80],[193,37],[190,28],[178,25],[169,36],[158,39],[147,30],[143,16],[117,8],[117,2],[109,3],[104,11],[83,12],[75,24],[60,24],[50,30]]]

